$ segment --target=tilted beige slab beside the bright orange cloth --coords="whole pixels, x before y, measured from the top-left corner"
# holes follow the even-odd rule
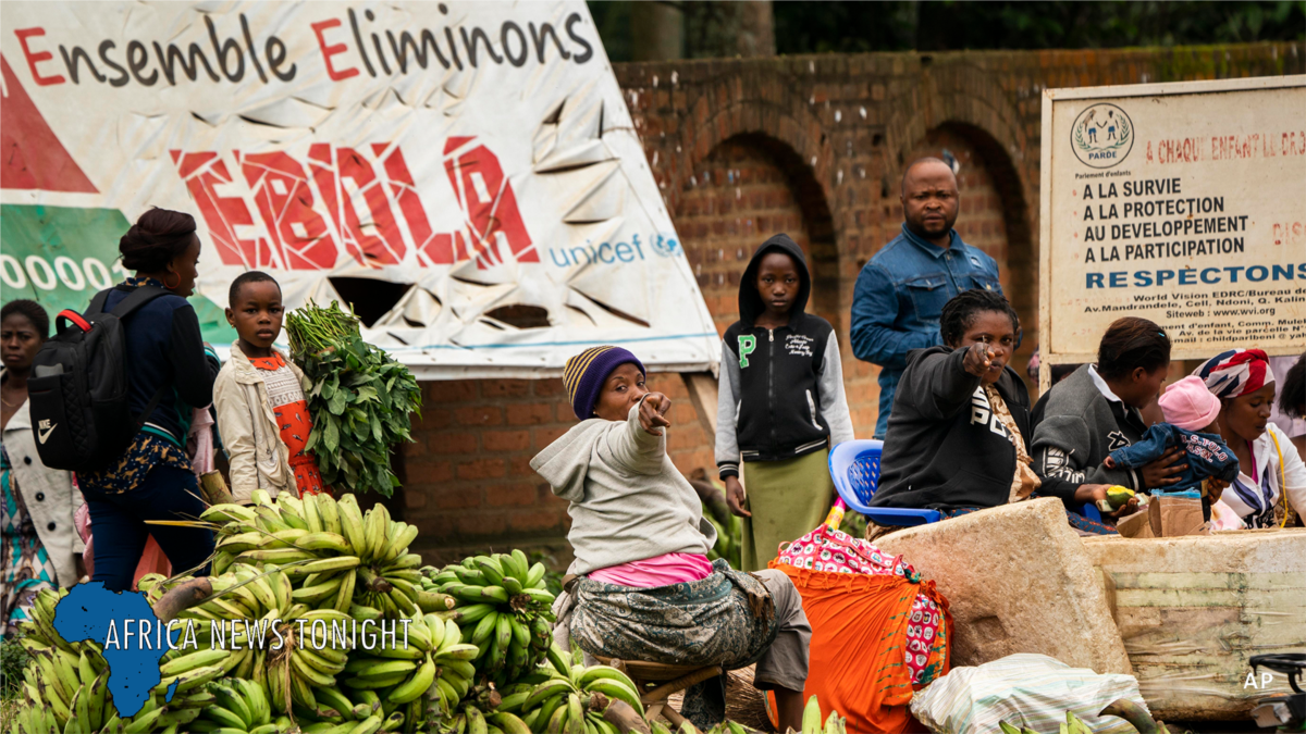
[[[1060,500],[983,509],[876,545],[905,555],[947,597],[953,665],[1041,653],[1071,667],[1132,673],[1101,577]]]

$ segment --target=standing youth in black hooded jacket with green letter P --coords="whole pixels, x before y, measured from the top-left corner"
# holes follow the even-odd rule
[[[803,311],[810,293],[803,251],[789,235],[768,239],[722,340],[716,456],[726,502],[744,519],[744,571],[820,525],[835,494],[829,447],[853,438],[838,342],[829,321]]]

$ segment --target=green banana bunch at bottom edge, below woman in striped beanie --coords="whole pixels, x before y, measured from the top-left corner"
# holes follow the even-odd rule
[[[499,712],[518,716],[533,734],[575,734],[580,730],[586,734],[622,734],[603,721],[602,712],[592,710],[596,694],[623,700],[644,716],[639,688],[624,673],[606,665],[585,667],[573,662],[572,656],[556,644],[550,645],[546,662],[539,666],[547,678],[529,691],[504,696]],[[504,729],[504,734],[525,733]]]

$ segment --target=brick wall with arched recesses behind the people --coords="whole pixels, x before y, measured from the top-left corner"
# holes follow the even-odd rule
[[[765,236],[789,231],[814,270],[812,310],[835,324],[858,435],[875,423],[876,368],[853,358],[848,317],[862,265],[901,223],[902,167],[948,148],[963,161],[959,230],[1003,265],[1037,342],[1038,136],[1042,90],[1306,72],[1299,44],[1117,51],[866,54],[615,64],[636,129],[718,329]],[[1024,355],[1015,367],[1024,368]],[[677,376],[671,455],[712,465]],[[407,447],[405,517],[419,550],[513,543],[564,549],[563,503],[528,462],[572,423],[560,380],[426,385]],[[451,551],[452,552],[452,551]]]

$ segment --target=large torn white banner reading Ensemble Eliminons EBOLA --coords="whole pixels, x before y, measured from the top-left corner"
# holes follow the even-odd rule
[[[157,205],[212,304],[411,286],[364,337],[419,376],[720,359],[584,0],[12,3],[0,56],[0,298],[85,304]]]

